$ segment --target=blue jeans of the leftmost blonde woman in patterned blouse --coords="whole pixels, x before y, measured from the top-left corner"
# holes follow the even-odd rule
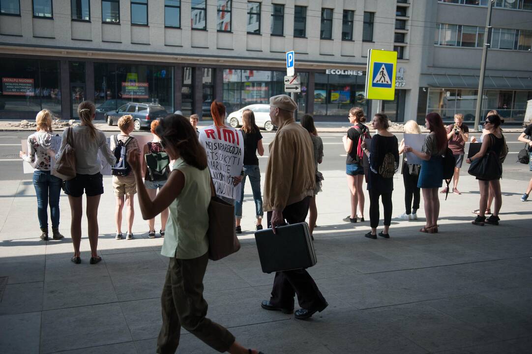
[[[52,176],[50,171],[36,170],[33,183],[37,194],[37,216],[40,228],[48,228],[48,203],[52,219],[52,227],[59,227],[59,197],[61,195],[61,179]]]

